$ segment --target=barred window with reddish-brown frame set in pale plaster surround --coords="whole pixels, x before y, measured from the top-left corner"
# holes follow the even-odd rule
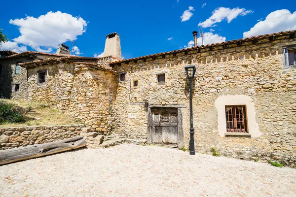
[[[248,132],[245,105],[225,106],[226,131]]]

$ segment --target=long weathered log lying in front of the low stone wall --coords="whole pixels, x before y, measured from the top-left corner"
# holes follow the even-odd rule
[[[0,165],[33,159],[85,146],[83,136],[0,151]]]

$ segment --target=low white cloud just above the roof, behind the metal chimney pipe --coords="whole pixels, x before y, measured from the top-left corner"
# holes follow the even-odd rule
[[[223,37],[217,33],[212,33],[212,32],[206,32],[204,33],[204,45],[207,44],[213,44],[213,43],[217,43],[217,42],[225,42],[226,37]],[[198,37],[197,38],[197,45],[200,46],[202,45],[202,37]],[[185,48],[190,48],[194,46],[194,41],[190,40],[187,44],[187,46],[185,45]]]

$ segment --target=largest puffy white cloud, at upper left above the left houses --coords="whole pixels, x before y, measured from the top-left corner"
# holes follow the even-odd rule
[[[9,23],[19,27],[21,35],[13,39],[16,43],[46,52],[51,52],[52,48],[57,48],[67,40],[77,39],[77,35],[84,33],[87,26],[81,17],[73,17],[60,11],[50,11],[38,18],[27,16],[10,19]]]

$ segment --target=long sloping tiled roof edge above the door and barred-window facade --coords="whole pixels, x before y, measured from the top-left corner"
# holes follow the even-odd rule
[[[201,46],[191,47],[191,48],[186,48],[186,49],[179,49],[179,50],[175,50],[175,51],[156,53],[156,54],[141,56],[141,57],[137,57],[137,58],[125,59],[125,60],[121,60],[121,61],[117,61],[117,62],[112,62],[110,65],[115,65],[115,64],[120,64],[120,63],[127,63],[127,62],[132,62],[132,61],[141,60],[141,59],[148,59],[148,58],[162,56],[162,55],[170,55],[170,54],[182,53],[182,52],[185,52],[185,51],[193,51],[193,50],[196,50],[196,49],[205,49],[205,48],[210,48],[210,47],[213,47],[213,46],[226,46],[226,45],[229,45],[229,44],[249,42],[249,41],[253,41],[253,40],[256,40],[256,39],[259,40],[259,39],[263,39],[263,38],[279,37],[279,36],[285,36],[285,35],[293,35],[295,37],[295,34],[296,34],[296,30],[292,30],[292,31],[286,31],[286,32],[279,32],[279,33],[271,33],[271,34],[265,34],[265,35],[252,36],[252,37],[248,37],[248,38],[242,38],[242,39],[238,39],[238,40],[229,40],[229,41],[226,41],[226,42],[221,42],[221,43],[216,43],[216,44],[207,44],[207,45],[201,45]]]

